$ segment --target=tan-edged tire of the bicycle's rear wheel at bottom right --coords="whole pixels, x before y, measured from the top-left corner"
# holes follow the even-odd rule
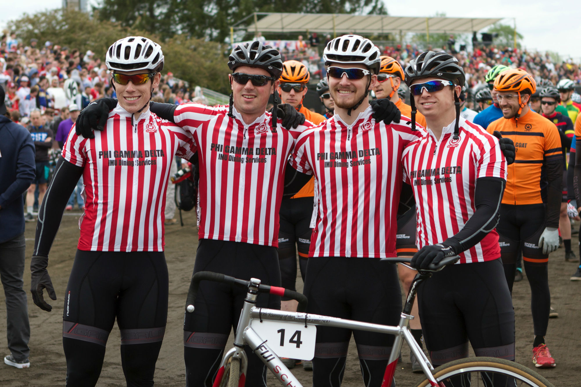
[[[537,372],[528,367],[522,366],[514,361],[498,359],[497,357],[468,357],[450,361],[442,364],[433,371],[437,382],[449,377],[458,376],[467,372],[497,372],[499,374],[513,376],[529,386],[554,387],[551,382],[543,378]],[[417,387],[429,386],[430,382],[425,379]]]

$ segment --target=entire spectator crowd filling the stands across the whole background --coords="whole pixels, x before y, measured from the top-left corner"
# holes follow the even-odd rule
[[[261,34],[255,39],[266,41]],[[322,48],[331,35],[319,37],[310,34],[307,39],[299,35],[296,40],[266,41],[279,49],[284,60],[300,60],[309,67],[311,79],[325,76]],[[496,45],[476,45],[472,52],[456,51],[454,37],[442,48],[418,45],[380,45],[383,55],[399,60],[405,66],[424,49],[451,51],[466,72],[468,87],[484,84],[486,72],[495,64],[520,67],[532,73],[537,81],[548,79],[557,84],[569,78],[581,86],[581,69],[571,60],[554,62],[548,53],[529,52]],[[462,46],[464,48],[464,46]],[[23,42],[15,33],[5,31],[0,40],[0,86],[6,91],[5,104],[13,121],[26,126],[30,114],[40,110],[42,125],[57,132],[58,124],[68,118],[67,107],[74,103],[81,110],[91,101],[103,96],[115,96],[110,84],[110,74],[103,58],[96,58],[88,50],[80,52],[53,42],[44,44],[36,39]],[[153,98],[156,102],[175,103],[206,102],[199,87],[190,89],[171,72],[162,78]]]

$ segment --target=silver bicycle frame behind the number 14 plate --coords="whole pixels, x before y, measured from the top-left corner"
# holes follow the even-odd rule
[[[248,359],[246,359],[246,354],[244,352],[244,345],[248,344],[254,353],[260,358],[260,360],[268,367],[272,374],[277,377],[278,381],[282,385],[287,387],[303,387],[298,381],[295,375],[289,371],[288,368],[282,363],[270,347],[267,342],[260,338],[260,336],[250,327],[250,320],[259,321],[284,321],[292,322],[296,324],[311,324],[320,325],[324,327],[336,327],[336,328],[347,328],[356,329],[358,331],[370,331],[377,332],[381,334],[394,335],[395,340],[393,342],[392,353],[389,356],[388,364],[392,364],[393,361],[397,361],[401,346],[403,342],[407,342],[412,353],[414,353],[416,359],[418,359],[419,365],[424,371],[426,378],[428,378],[433,385],[437,385],[436,379],[432,375],[433,366],[428,360],[428,357],[421,350],[418,343],[415,342],[414,336],[409,330],[410,320],[414,316],[410,316],[405,313],[401,313],[399,325],[393,327],[390,325],[372,324],[371,322],[361,322],[355,320],[346,320],[338,317],[321,316],[318,314],[307,314],[300,312],[282,311],[276,309],[266,309],[258,308],[254,306],[256,303],[257,289],[260,285],[260,280],[252,278],[250,280],[252,284],[249,286],[249,292],[246,295],[244,306],[240,314],[240,320],[238,321],[238,327],[236,328],[236,335],[234,338],[234,348],[229,350],[225,355],[220,367],[225,367],[228,363],[230,357],[239,357],[241,359],[240,370],[246,374],[246,369],[248,366]]]

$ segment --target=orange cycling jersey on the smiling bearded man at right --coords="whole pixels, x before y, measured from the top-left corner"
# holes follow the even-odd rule
[[[499,131],[503,137],[512,139],[517,148],[514,163],[507,166],[503,204],[543,203],[541,191],[547,186],[547,181],[541,169],[547,161],[563,157],[561,138],[555,124],[529,109],[519,117],[518,126],[514,118],[501,117],[486,130],[491,134]]]

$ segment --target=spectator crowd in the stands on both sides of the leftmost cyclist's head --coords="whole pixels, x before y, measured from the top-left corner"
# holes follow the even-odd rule
[[[104,58],[91,51],[80,52],[51,41],[23,42],[16,33],[4,31],[0,40],[0,87],[5,89],[5,105],[10,118],[23,126],[30,124],[35,110],[41,125],[56,133],[61,121],[69,118],[71,104],[81,110],[103,96],[114,97],[110,73]],[[205,102],[199,87],[164,75],[154,100],[175,103]]]

